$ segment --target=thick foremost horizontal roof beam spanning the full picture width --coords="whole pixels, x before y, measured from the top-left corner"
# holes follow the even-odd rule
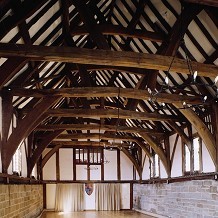
[[[0,56],[26,57],[32,60],[69,62],[80,64],[110,65],[121,67],[136,67],[153,70],[169,69],[170,56],[145,54],[124,51],[92,50],[85,48],[36,46],[22,44],[0,44]],[[218,67],[210,64],[192,62],[193,70],[198,70],[199,76],[216,77]],[[190,74],[186,60],[175,58],[171,72]]]

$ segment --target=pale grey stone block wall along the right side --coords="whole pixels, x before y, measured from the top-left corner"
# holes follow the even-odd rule
[[[218,181],[134,184],[133,207],[173,218],[218,217]]]

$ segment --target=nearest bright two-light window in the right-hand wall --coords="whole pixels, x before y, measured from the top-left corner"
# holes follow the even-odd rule
[[[195,137],[191,147],[184,144],[183,156],[183,173],[192,174],[202,171],[202,141],[201,138]]]

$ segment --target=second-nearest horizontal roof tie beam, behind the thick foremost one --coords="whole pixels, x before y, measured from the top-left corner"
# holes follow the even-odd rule
[[[11,91],[13,96],[21,97],[35,97],[41,98],[47,95],[49,96],[62,96],[71,98],[91,98],[91,97],[117,97],[118,93],[120,97],[149,100],[151,95],[147,90],[130,89],[130,88],[117,88],[117,87],[79,87],[79,88],[62,88],[62,89],[19,89],[12,88]],[[176,103],[184,101],[188,104],[200,104],[202,99],[200,96],[188,96],[188,95],[177,95],[168,93],[159,93],[155,96],[157,102],[164,103]]]

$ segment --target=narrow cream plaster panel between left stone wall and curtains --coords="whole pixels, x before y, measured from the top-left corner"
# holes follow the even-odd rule
[[[54,210],[56,196],[56,184],[46,184],[46,209]]]

